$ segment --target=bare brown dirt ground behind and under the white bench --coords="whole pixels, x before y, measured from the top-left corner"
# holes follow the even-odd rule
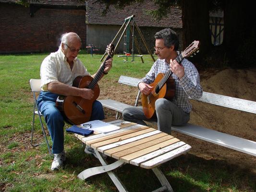
[[[256,69],[207,70],[200,72],[200,78],[203,90],[206,92],[256,101]],[[137,88],[118,84],[117,81],[118,79],[101,81],[99,99],[114,99],[134,105]],[[198,101],[191,102],[193,104],[193,111],[190,123],[256,141],[255,114]],[[113,110],[105,108],[105,112],[108,117],[115,116]],[[172,132],[172,135],[190,144],[192,146],[190,153],[195,156],[224,160],[256,173],[256,157],[254,156],[195,139],[181,133]]]

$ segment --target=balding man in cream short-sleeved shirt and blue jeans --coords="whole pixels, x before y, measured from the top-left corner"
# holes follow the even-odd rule
[[[73,87],[73,80],[79,75],[90,75],[83,63],[77,58],[81,48],[81,39],[76,33],[66,33],[61,37],[59,50],[47,56],[40,69],[41,89],[38,96],[38,107],[44,115],[53,142],[52,153],[54,160],[51,169],[59,169],[65,161],[64,152],[64,120],[55,102],[59,95],[80,96],[91,99],[92,89]],[[112,59],[106,61],[104,74],[112,66]],[[92,77],[95,76],[91,75]],[[100,78],[102,78],[102,76]],[[104,111],[100,102],[95,101],[90,120],[103,120]],[[93,149],[85,148],[85,153],[94,153]]]

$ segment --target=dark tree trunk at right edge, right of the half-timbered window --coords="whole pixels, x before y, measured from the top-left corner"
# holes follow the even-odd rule
[[[232,67],[255,66],[256,21],[251,1],[224,1],[223,44]]]

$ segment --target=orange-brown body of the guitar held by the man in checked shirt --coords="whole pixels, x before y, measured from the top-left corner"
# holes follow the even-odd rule
[[[171,100],[174,97],[175,94],[175,84],[174,79],[171,77],[168,78],[166,83],[158,89],[158,83],[161,81],[161,79],[164,77],[164,73],[158,73],[155,81],[152,84],[149,84],[150,86],[153,86],[153,89],[156,89],[156,92],[152,95],[145,95],[142,94],[142,107],[144,114],[147,119],[150,119],[153,117],[155,113],[155,102],[158,98],[166,98],[168,100]]]

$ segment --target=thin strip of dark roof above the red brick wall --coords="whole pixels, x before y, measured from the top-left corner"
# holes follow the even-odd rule
[[[0,0],[0,2],[16,3],[19,0]],[[30,4],[41,5],[64,5],[64,6],[85,6],[85,3],[81,3],[79,0],[30,0]]]

